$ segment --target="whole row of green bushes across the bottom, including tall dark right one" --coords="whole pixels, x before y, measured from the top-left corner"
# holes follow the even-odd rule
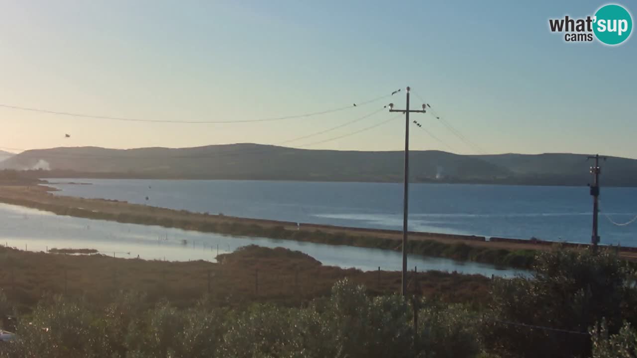
[[[489,307],[473,310],[373,297],[347,279],[293,308],[231,310],[213,299],[177,308],[131,293],[108,306],[53,297],[20,320],[0,357],[636,357],[634,278],[610,252],[555,250],[536,259],[531,277],[494,280]],[[0,309],[10,307],[0,294]]]

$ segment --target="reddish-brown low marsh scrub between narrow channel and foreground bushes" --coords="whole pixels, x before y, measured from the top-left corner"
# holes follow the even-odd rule
[[[369,294],[399,292],[397,271],[369,271],[323,266],[313,257],[286,248],[246,247],[208,261],[169,262],[110,255],[59,255],[0,247],[0,287],[22,311],[47,294],[85,297],[106,304],[120,290],[145,292],[149,304],[169,300],[195,304],[208,295],[218,306],[255,302],[298,306],[329,294],[334,282],[349,278]],[[448,302],[483,304],[489,278],[437,271],[410,273],[423,296]]]

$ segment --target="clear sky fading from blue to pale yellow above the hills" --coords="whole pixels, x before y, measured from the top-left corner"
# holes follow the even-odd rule
[[[415,93],[411,148],[464,154],[637,157],[637,38],[564,43],[548,18],[601,1],[0,0],[0,104],[154,120],[249,120]],[[623,4],[637,11],[634,1]],[[634,32],[634,30],[633,30]],[[174,124],[0,108],[0,149],[280,143],[382,108],[404,92],[306,118]],[[412,95],[412,105],[421,101]],[[392,118],[382,111],[289,147]],[[64,138],[64,134],[71,138]],[[401,150],[404,121],[306,148]],[[452,149],[450,150],[449,147]]]

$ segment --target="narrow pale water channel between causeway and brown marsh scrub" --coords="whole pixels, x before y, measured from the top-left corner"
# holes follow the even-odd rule
[[[141,259],[167,261],[215,261],[217,250],[219,254],[224,254],[238,247],[254,244],[298,250],[327,266],[357,268],[363,271],[374,271],[378,266],[385,271],[399,271],[402,260],[400,252],[389,250],[223,236],[159,226],[122,224],[59,216],[48,211],[9,204],[0,204],[0,244],[29,251],[46,251],[54,247],[94,248],[101,254],[117,257],[134,258],[139,255]],[[410,255],[409,265],[410,268],[417,266],[419,271],[457,271],[508,277],[526,274],[520,270],[496,269],[488,264],[420,255]]]

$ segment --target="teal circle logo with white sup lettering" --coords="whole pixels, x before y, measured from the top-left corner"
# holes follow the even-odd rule
[[[608,4],[599,8],[594,17],[593,32],[606,45],[619,45],[631,36],[633,17],[623,6]]]

